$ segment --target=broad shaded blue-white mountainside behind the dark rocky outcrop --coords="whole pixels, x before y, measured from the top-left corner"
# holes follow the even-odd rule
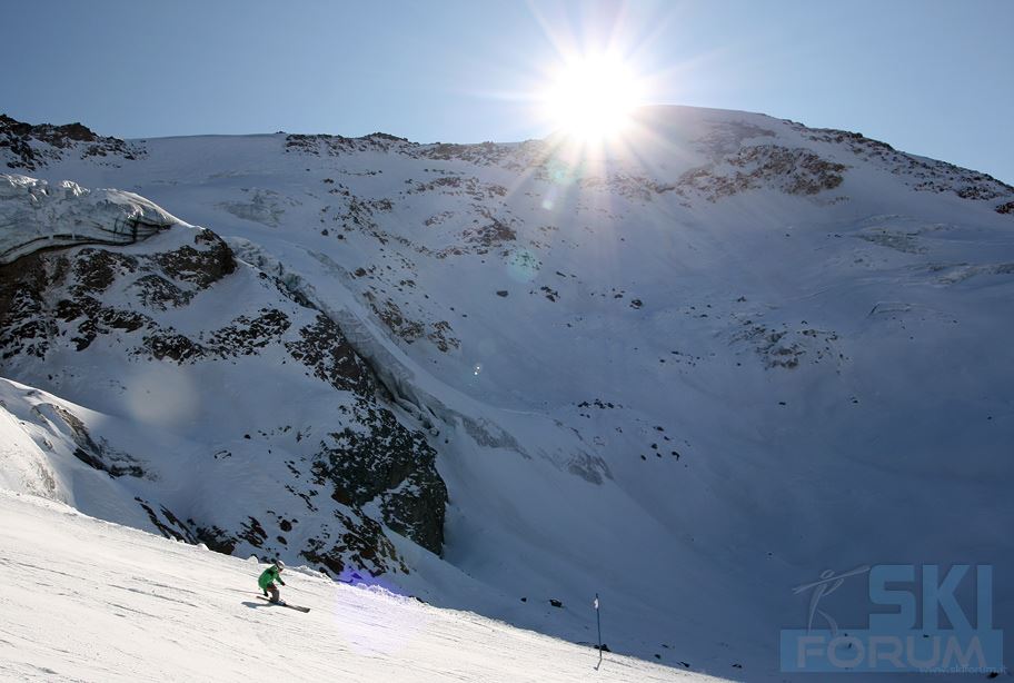
[[[615,650],[763,679],[805,618],[791,587],[825,568],[1014,573],[1014,189],[760,115],[643,116],[584,156],[274,135],[31,172],[210,228],[340,326],[447,486],[441,558],[391,541],[405,592],[574,641],[599,592],[623,605]],[[93,387],[122,368],[80,365],[3,373],[105,414]],[[200,370],[179,368],[211,390]],[[250,422],[302,387],[271,385]],[[1014,617],[1008,586],[995,613]]]

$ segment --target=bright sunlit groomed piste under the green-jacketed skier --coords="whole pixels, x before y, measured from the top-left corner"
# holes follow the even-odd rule
[[[2,681],[705,681],[0,489]],[[593,616],[589,608],[589,617]]]

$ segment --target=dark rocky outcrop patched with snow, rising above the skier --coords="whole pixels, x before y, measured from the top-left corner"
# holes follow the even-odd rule
[[[3,181],[23,190],[2,197],[0,212],[9,216],[31,214],[20,204],[51,198],[44,184]],[[57,194],[69,206],[54,214],[52,232],[68,216],[102,221],[105,205],[92,202],[86,190],[63,187]],[[334,574],[348,565],[375,575],[407,571],[390,532],[440,554],[447,491],[436,452],[395,415],[338,325],[294,301],[268,275],[238,263],[212,231],[155,215],[159,220],[146,224],[152,230],[132,234],[122,246],[98,237],[80,239],[92,242],[88,246],[54,245],[39,217],[8,229],[7,242],[17,246],[10,253],[20,256],[0,264],[0,372],[46,377],[49,386],[80,389],[84,383],[82,395],[106,386],[122,404],[139,400],[123,388],[137,368],[177,367],[218,378],[198,380],[197,397],[206,403],[225,403],[219,389],[226,384],[288,395],[292,403],[309,393],[317,406],[302,423],[268,425],[264,415],[226,408],[228,427],[177,425],[172,432],[201,442],[183,462],[157,445],[135,452],[138,445],[117,443],[115,432],[96,434],[87,412],[48,403],[46,424],[53,438],[66,442],[80,464],[116,479],[122,497],[170,537],[222,552],[302,557]],[[261,375],[270,378],[270,388]],[[158,426],[155,407],[151,422]],[[240,457],[245,467],[226,474]],[[195,472],[180,473],[181,466]],[[193,478],[197,469],[202,473]],[[262,482],[245,482],[255,478],[250,472],[276,473],[274,483],[265,489]],[[167,478],[202,495],[173,496],[153,484]],[[219,496],[237,502],[215,505]]]

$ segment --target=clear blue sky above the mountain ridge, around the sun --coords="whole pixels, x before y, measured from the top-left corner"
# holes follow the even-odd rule
[[[2,0],[0,111],[121,138],[549,132],[533,93],[612,47],[655,103],[859,131],[1014,184],[1012,0]]]

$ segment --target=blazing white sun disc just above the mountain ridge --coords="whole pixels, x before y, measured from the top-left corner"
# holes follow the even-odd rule
[[[585,142],[615,139],[630,125],[640,103],[639,79],[615,55],[590,55],[565,62],[549,79],[544,115],[564,135]]]

